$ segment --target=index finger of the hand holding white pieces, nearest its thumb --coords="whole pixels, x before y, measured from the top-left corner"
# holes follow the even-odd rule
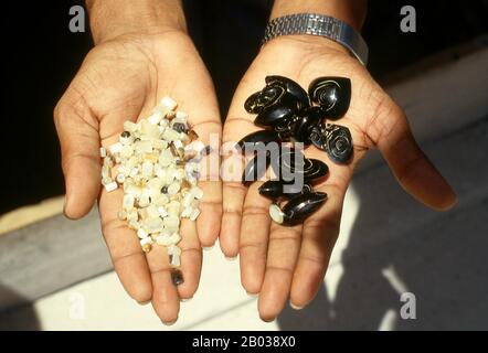
[[[121,189],[102,192],[98,205],[102,232],[120,282],[131,298],[144,303],[152,297],[151,277],[135,231],[117,217],[123,193]]]

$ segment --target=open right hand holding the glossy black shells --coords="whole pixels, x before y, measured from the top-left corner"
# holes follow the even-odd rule
[[[315,185],[329,199],[303,225],[285,227],[272,223],[269,201],[258,194],[261,182],[248,189],[240,182],[223,186],[220,243],[227,257],[240,255],[241,280],[250,293],[259,293],[263,320],[275,319],[288,297],[303,308],[322,284],[330,254],[339,234],[346,190],[358,162],[367,151],[378,148],[402,186],[420,202],[447,210],[456,200],[450,186],[421,151],[402,109],[372,79],[368,71],[342,46],[314,36],[282,36],[268,42],[241,81],[224,125],[223,141],[238,141],[258,128],[255,116],[245,111],[245,99],[263,88],[266,75],[289,77],[303,87],[319,76],[351,79],[349,111],[337,121],[348,127],[354,143],[350,164],[339,165],[323,151],[309,147],[308,158],[323,160],[329,178]],[[227,160],[223,161],[223,165]],[[240,180],[241,175],[225,178]]]

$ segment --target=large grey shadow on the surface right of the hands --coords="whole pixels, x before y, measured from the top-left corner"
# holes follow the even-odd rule
[[[487,119],[427,148],[459,196],[444,214],[416,204],[384,165],[359,174],[333,299],[326,281],[308,308],[283,312],[280,329],[487,330]],[[416,297],[416,320],[400,318],[403,291]]]

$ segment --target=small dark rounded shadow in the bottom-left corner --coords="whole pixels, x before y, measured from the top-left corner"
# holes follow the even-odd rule
[[[20,303],[8,310],[0,311],[0,331],[41,330],[41,324],[33,306],[22,296],[0,286],[0,302]],[[20,306],[22,306],[21,310],[19,310]]]

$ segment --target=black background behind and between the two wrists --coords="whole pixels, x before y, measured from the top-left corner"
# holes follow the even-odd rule
[[[81,1],[2,3],[0,214],[64,193],[52,110],[89,51],[89,33],[71,33]],[[270,1],[188,0],[187,17],[215,82],[223,116],[257,53]],[[400,31],[400,9],[414,6],[417,32]],[[380,82],[426,55],[487,32],[488,1],[371,0],[364,26],[369,68]]]

